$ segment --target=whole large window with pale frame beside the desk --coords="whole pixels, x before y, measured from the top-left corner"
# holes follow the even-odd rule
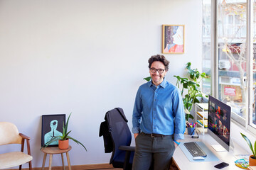
[[[203,0],[203,20],[213,21],[203,21],[203,72],[212,82],[203,81],[202,91],[230,105],[233,120],[256,129],[255,6],[256,0]]]

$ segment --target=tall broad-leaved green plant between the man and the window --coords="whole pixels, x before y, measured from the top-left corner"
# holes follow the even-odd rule
[[[191,62],[186,64],[186,69],[188,69],[188,78],[174,77],[177,78],[176,86],[178,86],[178,88],[182,86],[181,96],[183,96],[184,111],[186,113],[186,120],[188,120],[188,118],[193,119],[193,115],[190,114],[193,103],[200,103],[197,97],[203,97],[203,93],[200,89],[201,80],[209,79],[210,75],[205,72],[200,73],[198,69],[191,69]]]

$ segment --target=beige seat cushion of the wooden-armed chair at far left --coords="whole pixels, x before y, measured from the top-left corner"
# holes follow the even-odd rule
[[[33,158],[23,152],[9,152],[0,154],[0,169],[11,168],[26,162],[30,162]]]

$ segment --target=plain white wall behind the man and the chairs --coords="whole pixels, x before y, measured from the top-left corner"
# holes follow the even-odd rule
[[[1,121],[31,137],[40,167],[41,115],[72,112],[71,135],[88,152],[71,142],[71,164],[108,163],[100,123],[121,107],[132,128],[147,60],[161,53],[161,25],[185,25],[185,53],[165,55],[175,84],[186,62],[201,69],[201,22],[201,0],[0,0]]]

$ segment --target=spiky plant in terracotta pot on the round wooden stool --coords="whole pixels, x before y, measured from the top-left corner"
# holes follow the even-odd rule
[[[71,115],[71,113],[70,113]],[[68,122],[70,119],[70,115],[68,116],[68,120],[66,122],[66,124],[64,125],[63,123],[63,135],[58,135],[53,137],[49,142],[46,143],[46,145],[44,145],[43,147],[48,147],[48,145],[50,145],[50,143],[58,141],[58,147],[59,149],[68,149],[69,146],[69,140],[73,140],[74,142],[76,142],[78,145],[82,145],[81,142],[79,142],[78,140],[75,140],[75,138],[70,137],[69,134],[71,132],[71,130],[68,132]],[[43,148],[41,147],[41,149]],[[82,147],[85,148],[84,145],[82,145]],[[87,151],[87,149],[85,148],[85,150]]]

